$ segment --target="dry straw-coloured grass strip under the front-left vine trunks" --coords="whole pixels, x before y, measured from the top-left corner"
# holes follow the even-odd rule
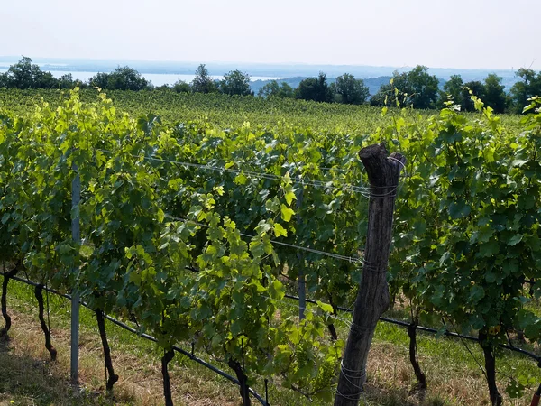
[[[74,390],[69,384],[69,330],[52,328],[53,346],[59,355],[57,362],[51,363],[36,319],[14,310],[10,310],[10,314],[13,326],[9,338],[0,343],[0,405],[163,404],[160,358],[156,353],[135,354],[112,343],[113,364],[120,380],[115,384],[115,396],[107,397],[100,338],[82,328],[79,341],[82,386]],[[224,383],[206,382],[194,374],[190,368],[193,365],[172,364],[170,375],[175,404],[238,404],[234,388],[224,388]]]

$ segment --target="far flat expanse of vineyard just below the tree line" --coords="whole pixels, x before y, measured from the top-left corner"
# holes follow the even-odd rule
[[[274,130],[280,126],[309,128],[318,134],[373,134],[379,127],[390,125],[398,110],[382,117],[381,107],[347,106],[339,104],[307,102],[293,99],[270,99],[259,97],[230,97],[163,91],[107,91],[114,106],[129,115],[159,115],[164,124],[206,121],[218,128],[238,127],[249,122],[253,127]],[[66,90],[17,90],[0,89],[0,111],[18,114],[33,112],[41,104],[41,98],[57,106],[68,97]],[[82,101],[96,101],[97,91],[81,91]],[[409,115],[434,115],[435,111],[411,111]],[[502,115],[506,126],[518,125],[518,115]],[[418,120],[425,125],[426,120]]]

